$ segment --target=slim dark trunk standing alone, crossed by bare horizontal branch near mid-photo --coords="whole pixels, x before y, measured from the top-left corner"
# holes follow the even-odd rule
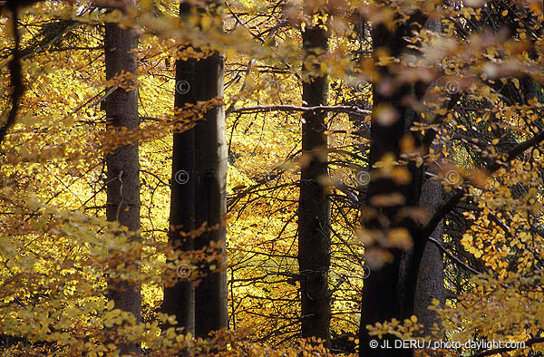
[[[328,34],[322,26],[308,27],[302,34],[306,55],[328,50]],[[311,76],[303,82],[302,99],[307,106],[327,104],[328,80]],[[302,151],[310,158],[301,170],[298,200],[298,268],[302,304],[302,337],[316,336],[330,343],[331,303],[328,271],[331,260],[330,202],[325,188],[327,172],[326,112],[303,114]]]

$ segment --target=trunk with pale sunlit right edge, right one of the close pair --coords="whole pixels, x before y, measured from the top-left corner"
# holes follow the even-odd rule
[[[195,91],[199,101],[223,96],[225,58],[213,53],[197,63],[199,75]],[[197,227],[207,222],[211,229],[195,239],[195,248],[214,245],[218,259],[202,269],[206,276],[195,288],[197,336],[227,327],[227,269],[224,216],[227,211],[227,143],[225,140],[225,109],[216,107],[204,114],[195,130],[197,197],[195,215]]]

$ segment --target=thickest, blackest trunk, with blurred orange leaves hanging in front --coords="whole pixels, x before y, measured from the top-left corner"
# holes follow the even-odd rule
[[[385,49],[393,57],[400,57],[407,52],[407,42],[404,37],[411,31],[413,22],[423,24],[423,16],[414,14],[412,21],[400,24],[393,31],[387,29],[384,24],[374,27],[372,38],[374,56],[376,50]],[[379,59],[376,58],[376,62]],[[395,82],[395,74],[390,65],[377,68],[379,78],[374,80],[373,88],[373,113],[371,123],[371,147],[369,168],[374,168],[378,161],[390,156],[391,159],[400,159],[400,143],[405,135],[413,135],[410,130],[414,119],[414,111],[407,106],[406,99],[415,94],[423,96],[423,93],[414,92],[412,84],[398,84]],[[393,84],[394,83],[394,84]],[[393,85],[390,91],[388,85]],[[419,140],[414,138],[417,143]],[[417,145],[417,144],[416,144]],[[375,235],[385,235],[392,228],[404,228],[413,237],[413,251],[404,252],[400,248],[390,248],[391,262],[384,262],[383,266],[370,266],[370,275],[364,280],[361,307],[360,325],[360,350],[364,357],[408,357],[412,351],[408,349],[388,349],[373,346],[377,340],[370,336],[366,325],[374,325],[377,322],[391,320],[393,317],[402,320],[413,313],[413,299],[415,292],[415,279],[413,271],[417,272],[417,260],[423,255],[424,242],[418,236],[417,225],[411,219],[399,219],[399,210],[403,207],[419,206],[422,169],[409,165],[407,169],[412,175],[411,182],[395,182],[391,176],[381,175],[380,169],[372,169],[371,181],[367,191],[367,206],[364,208],[363,226],[374,232]],[[384,198],[403,198],[397,203],[384,203]],[[370,248],[368,248],[370,249]],[[403,264],[406,255],[411,256],[409,265]],[[404,261],[405,262],[405,261]],[[393,348],[395,337],[385,335],[380,343],[389,343]],[[374,341],[373,341],[374,340]],[[372,342],[372,343],[371,343]]]

